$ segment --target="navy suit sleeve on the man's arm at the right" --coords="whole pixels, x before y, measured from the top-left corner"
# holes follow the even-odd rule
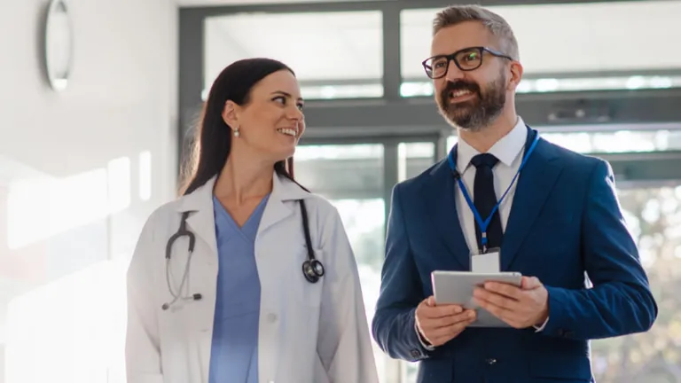
[[[649,330],[657,304],[638,249],[624,223],[612,168],[599,160],[583,210],[582,252],[592,288],[549,287],[549,321],[543,334],[575,340]]]

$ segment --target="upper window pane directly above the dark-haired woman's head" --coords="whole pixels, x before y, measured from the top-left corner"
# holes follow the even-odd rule
[[[207,18],[204,27],[206,89],[224,66],[268,57],[294,69],[304,98],[383,95],[381,12],[235,14]]]

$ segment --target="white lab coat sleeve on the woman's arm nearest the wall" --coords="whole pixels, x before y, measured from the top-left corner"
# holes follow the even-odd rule
[[[154,248],[151,218],[145,224],[128,268],[128,328],[125,340],[129,383],[160,383],[159,328],[153,300],[153,274],[149,257]]]

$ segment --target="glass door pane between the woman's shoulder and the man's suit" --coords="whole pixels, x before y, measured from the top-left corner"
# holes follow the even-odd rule
[[[380,291],[386,207],[383,199],[382,145],[301,145],[295,177],[338,208],[355,252],[367,320],[371,325]],[[372,342],[380,381],[388,358]]]

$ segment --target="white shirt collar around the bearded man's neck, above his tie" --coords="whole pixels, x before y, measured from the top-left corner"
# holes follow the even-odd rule
[[[497,159],[505,166],[511,166],[513,160],[518,157],[518,154],[525,146],[528,136],[528,129],[525,122],[518,116],[515,126],[511,131],[497,141],[495,145],[489,148],[489,153],[494,154]],[[459,139],[457,147],[457,168],[466,171],[468,165],[474,156],[480,154],[473,146],[468,145],[466,141]]]

